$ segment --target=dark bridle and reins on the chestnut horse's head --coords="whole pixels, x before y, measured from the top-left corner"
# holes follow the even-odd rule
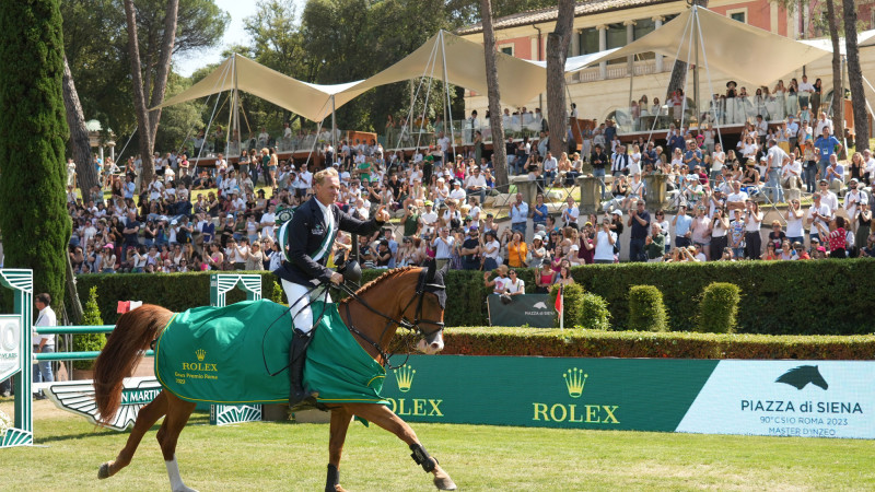
[[[388,330],[389,327],[395,325],[395,326],[398,326],[398,327],[401,327],[401,328],[405,328],[405,329],[408,329],[408,330],[418,331],[422,336],[423,339],[431,338],[435,333],[442,332],[444,330],[444,328],[445,328],[445,325],[444,325],[443,321],[435,320],[435,319],[424,319],[424,318],[422,318],[422,303],[423,303],[423,300],[425,298],[425,294],[427,293],[431,293],[431,294],[438,295],[439,301],[440,301],[441,296],[445,296],[446,295],[446,293],[445,293],[446,286],[445,285],[439,284],[439,283],[429,283],[428,282],[425,270],[423,270],[419,274],[419,280],[417,281],[417,290],[413,293],[413,295],[410,297],[410,300],[407,302],[407,304],[404,306],[404,308],[401,309],[400,319],[393,318],[392,316],[389,316],[389,315],[387,315],[385,313],[382,313],[382,312],[377,311],[376,308],[374,308],[373,306],[371,306],[370,304],[368,304],[368,302],[365,300],[363,300],[359,294],[357,294],[355,291],[352,288],[347,285],[346,282],[341,283],[339,285],[339,288],[340,288],[341,291],[346,292],[350,297],[352,297],[359,304],[361,304],[362,306],[368,308],[371,313],[374,313],[375,315],[377,315],[377,316],[380,316],[380,317],[382,317],[382,318],[384,318],[386,320],[386,325],[383,327],[383,332],[380,335],[380,338],[376,341],[371,340],[370,337],[364,335],[360,329],[355,328],[355,326],[352,324],[352,317],[350,316],[350,311],[349,311],[349,305],[351,304],[351,302],[348,302],[348,303],[345,304],[345,307],[346,307],[346,311],[347,311],[347,328],[349,328],[349,330],[352,331],[353,333],[358,335],[359,338],[364,340],[368,344],[373,347],[374,350],[377,351],[377,353],[380,353],[380,355],[383,358],[383,361],[384,361],[383,362],[383,366],[386,367],[386,368],[394,370],[394,368],[401,367],[405,364],[407,364],[407,361],[410,358],[410,351],[408,350],[407,358],[405,358],[404,363],[401,363],[399,365],[395,365],[395,366],[389,363],[389,358],[392,355],[394,355],[394,354],[388,352],[387,350],[385,350],[380,344],[380,340],[383,339],[383,336],[386,333],[386,330]],[[411,321],[406,316],[404,316],[404,314],[407,313],[407,309],[410,308],[410,305],[413,304],[415,301],[417,303],[417,308],[413,312],[415,313],[413,314],[413,320]],[[441,307],[445,307],[445,300],[444,300],[444,302],[441,303]],[[434,326],[436,328],[434,328],[431,331],[425,331],[420,327],[420,325],[432,325],[432,326]]]

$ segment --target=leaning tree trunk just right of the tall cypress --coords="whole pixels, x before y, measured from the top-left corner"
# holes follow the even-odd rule
[[[85,116],[82,114],[82,104],[75,91],[73,75],[63,57],[63,107],[67,114],[67,126],[70,127],[70,147],[75,161],[77,184],[82,192],[82,202],[88,203],[91,188],[101,186],[97,169],[91,162],[91,144],[89,143],[89,129],[85,127]]]

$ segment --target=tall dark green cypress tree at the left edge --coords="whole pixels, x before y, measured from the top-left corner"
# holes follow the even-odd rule
[[[63,300],[67,243],[63,36],[58,0],[0,2],[0,230],[7,268]],[[56,308],[57,308],[56,307]]]

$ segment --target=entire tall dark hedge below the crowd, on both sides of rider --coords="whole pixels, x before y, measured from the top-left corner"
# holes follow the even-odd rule
[[[364,281],[382,270],[365,270]],[[517,269],[534,291],[533,270]],[[260,272],[264,292],[270,295],[275,277]],[[619,263],[574,268],[574,280],[584,291],[602,296],[611,314],[614,329],[628,328],[629,288],[655,285],[672,328],[693,330],[698,301],[712,282],[730,282],[742,290],[736,332],[772,335],[872,333],[870,306],[875,292],[875,261],[867,258],[818,261],[713,261],[708,263]],[[101,313],[115,323],[116,301],[140,300],[182,311],[209,304],[209,273],[88,274],[80,276],[79,295],[86,300],[97,285]],[[488,324],[483,277],[478,271],[451,271],[446,277],[448,326]],[[229,302],[244,298],[234,290]]]

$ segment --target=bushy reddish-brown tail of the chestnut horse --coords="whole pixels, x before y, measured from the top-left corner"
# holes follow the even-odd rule
[[[94,401],[101,422],[108,423],[121,405],[121,384],[144,351],[161,335],[173,313],[144,304],[118,318],[116,329],[106,340],[94,364]]]

